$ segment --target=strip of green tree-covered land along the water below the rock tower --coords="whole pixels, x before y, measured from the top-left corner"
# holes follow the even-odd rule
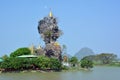
[[[29,48],[19,48],[10,56],[1,57],[1,72],[59,72],[91,70],[94,66],[118,66],[116,55],[101,53],[99,55],[85,56],[81,60],[76,57],[68,58],[65,54],[62,60],[45,55],[33,55]]]

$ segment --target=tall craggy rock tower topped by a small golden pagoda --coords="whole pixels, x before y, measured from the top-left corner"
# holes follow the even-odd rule
[[[58,28],[57,20],[52,16],[51,12],[48,17],[44,17],[39,21],[38,32],[45,42],[45,55],[61,60],[61,46],[56,40],[61,36],[62,32]]]

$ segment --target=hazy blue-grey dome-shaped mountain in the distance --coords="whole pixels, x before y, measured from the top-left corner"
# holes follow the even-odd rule
[[[94,52],[92,49],[88,48],[88,47],[84,47],[82,49],[80,49],[80,51],[78,51],[75,54],[75,57],[77,57],[79,60],[82,59],[85,56],[89,56],[89,55],[94,55]]]

